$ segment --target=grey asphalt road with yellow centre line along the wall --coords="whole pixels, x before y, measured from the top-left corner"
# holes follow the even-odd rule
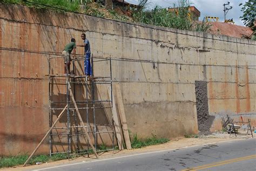
[[[37,170],[256,170],[256,139],[119,156]]]

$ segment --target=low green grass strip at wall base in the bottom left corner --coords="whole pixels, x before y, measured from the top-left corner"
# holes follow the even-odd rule
[[[23,165],[25,161],[29,158],[28,155],[17,155],[17,156],[1,156],[0,157],[0,168],[3,167],[14,167],[18,165]],[[28,164],[35,165],[37,162],[50,162],[68,159],[68,155],[66,154],[53,154],[50,155],[36,155],[33,156]]]

